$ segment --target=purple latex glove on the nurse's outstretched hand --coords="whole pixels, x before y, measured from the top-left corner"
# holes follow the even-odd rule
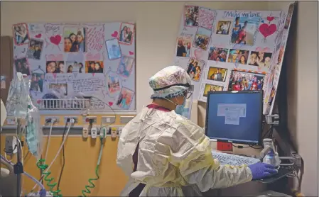
[[[252,179],[264,179],[278,173],[273,165],[265,163],[252,164],[249,169],[252,171]]]

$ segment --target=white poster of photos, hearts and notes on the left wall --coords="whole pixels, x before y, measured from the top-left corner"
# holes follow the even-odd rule
[[[18,23],[14,71],[39,99],[91,98],[92,110],[136,109],[134,23]]]

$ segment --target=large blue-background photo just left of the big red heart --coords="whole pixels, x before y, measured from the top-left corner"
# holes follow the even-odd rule
[[[232,26],[232,44],[254,45],[254,35],[259,25],[259,17],[236,17]]]

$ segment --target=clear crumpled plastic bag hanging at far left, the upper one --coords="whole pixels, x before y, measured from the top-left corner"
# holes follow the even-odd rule
[[[26,118],[31,81],[25,76],[23,77],[23,74],[18,72],[17,77],[11,81],[6,99],[7,116]]]

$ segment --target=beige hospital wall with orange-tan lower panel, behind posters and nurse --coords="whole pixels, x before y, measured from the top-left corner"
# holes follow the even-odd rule
[[[198,1],[188,2],[212,9],[281,10],[288,2],[276,1]],[[175,43],[183,12],[184,1],[133,2],[133,1],[56,1],[56,2],[1,2],[1,35],[11,35],[11,26],[19,22],[94,22],[94,21],[136,21],[136,104],[141,111],[150,99],[151,89],[148,77],[159,69],[171,65],[175,55]],[[315,113],[318,108],[316,80],[318,79],[318,4],[299,2],[298,25],[291,42],[296,43],[289,50],[291,69],[288,84],[289,129],[293,141],[305,162],[302,192],[307,196],[318,196],[318,161],[315,149],[318,146],[318,125]],[[116,11],[116,13],[114,13]],[[286,60],[285,60],[286,61]],[[198,123],[205,124],[205,104],[199,104]],[[50,142],[49,158],[53,159],[60,146],[61,137]],[[1,137],[1,145],[4,145]],[[3,147],[1,146],[1,151]],[[66,166],[61,181],[64,196],[77,196],[94,177],[99,145],[92,146],[90,140],[69,137],[66,145]],[[1,152],[2,154],[3,152]],[[101,177],[91,196],[117,196],[127,178],[116,166],[117,141],[107,141],[101,166]],[[36,160],[26,161],[26,171],[39,176]],[[53,177],[58,178],[60,159],[53,165]],[[317,167],[317,169],[315,169]],[[25,181],[25,188],[33,184]]]

